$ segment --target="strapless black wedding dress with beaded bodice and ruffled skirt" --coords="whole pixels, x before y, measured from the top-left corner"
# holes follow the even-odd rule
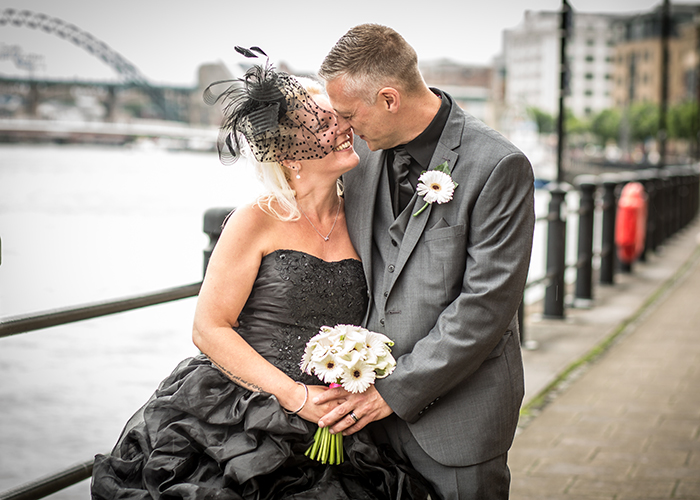
[[[359,261],[278,250],[262,260],[238,333],[294,380],[320,384],[299,362],[322,325],[359,324],[367,287]],[[97,455],[93,499],[425,499],[429,487],[366,429],[344,438],[345,462],[304,456],[316,425],[251,392],[203,355],[182,361]]]

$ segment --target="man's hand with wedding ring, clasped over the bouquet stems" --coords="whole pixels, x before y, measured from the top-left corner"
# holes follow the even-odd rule
[[[341,400],[342,403],[318,421],[318,426],[330,428],[331,434],[342,432],[344,436],[349,436],[370,422],[381,420],[393,413],[373,385],[359,394],[352,394],[342,387],[336,387],[313,398],[315,404]]]

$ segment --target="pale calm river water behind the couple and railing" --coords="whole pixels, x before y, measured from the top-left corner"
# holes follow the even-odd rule
[[[204,212],[259,189],[246,165],[215,153],[0,145],[0,317],[198,282]],[[538,193],[538,213],[546,199]],[[0,492],[109,451],[158,382],[196,354],[195,301],[0,339]],[[89,481],[51,498],[87,499]]]

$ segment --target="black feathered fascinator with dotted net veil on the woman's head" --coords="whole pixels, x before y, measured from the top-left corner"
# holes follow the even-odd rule
[[[236,51],[250,58],[267,57],[260,47]],[[226,89],[215,92],[222,85]],[[269,59],[251,67],[243,78],[212,83],[204,101],[224,104],[218,141],[224,164],[240,157],[241,140],[260,162],[318,159],[333,149],[335,115],[318,106],[294,77],[276,71]]]

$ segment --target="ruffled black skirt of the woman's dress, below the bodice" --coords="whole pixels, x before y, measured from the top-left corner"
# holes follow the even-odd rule
[[[186,359],[127,423],[112,453],[95,457],[92,498],[429,498],[420,475],[364,431],[344,438],[343,464],[310,460],[304,452],[315,431],[206,357]]]

